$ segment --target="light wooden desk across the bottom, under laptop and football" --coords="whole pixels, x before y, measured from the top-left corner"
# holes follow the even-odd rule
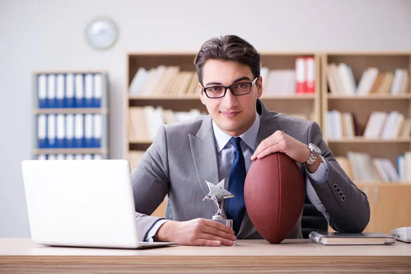
[[[234,247],[88,249],[0,238],[0,273],[411,273],[411,244],[324,247],[238,240]]]

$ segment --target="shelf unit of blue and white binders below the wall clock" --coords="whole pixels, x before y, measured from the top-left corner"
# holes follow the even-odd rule
[[[35,159],[108,158],[107,78],[103,71],[34,73]]]

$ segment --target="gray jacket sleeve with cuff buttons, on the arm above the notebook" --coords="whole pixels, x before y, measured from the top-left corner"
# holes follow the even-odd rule
[[[328,173],[323,184],[310,183],[329,215],[329,225],[338,232],[362,232],[370,219],[369,201],[336,162],[332,151],[325,143],[317,123],[310,125],[308,143],[312,142],[321,149],[327,161]]]

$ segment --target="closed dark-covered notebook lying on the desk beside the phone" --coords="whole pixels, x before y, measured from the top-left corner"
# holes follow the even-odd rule
[[[310,232],[308,237],[320,245],[391,245],[395,243],[394,237],[381,232]]]

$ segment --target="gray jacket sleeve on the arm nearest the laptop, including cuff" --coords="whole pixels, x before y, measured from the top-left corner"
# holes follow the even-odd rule
[[[138,239],[144,240],[155,223],[164,218],[149,216],[169,193],[169,164],[166,130],[158,129],[153,144],[132,171],[134,206],[136,210]]]

